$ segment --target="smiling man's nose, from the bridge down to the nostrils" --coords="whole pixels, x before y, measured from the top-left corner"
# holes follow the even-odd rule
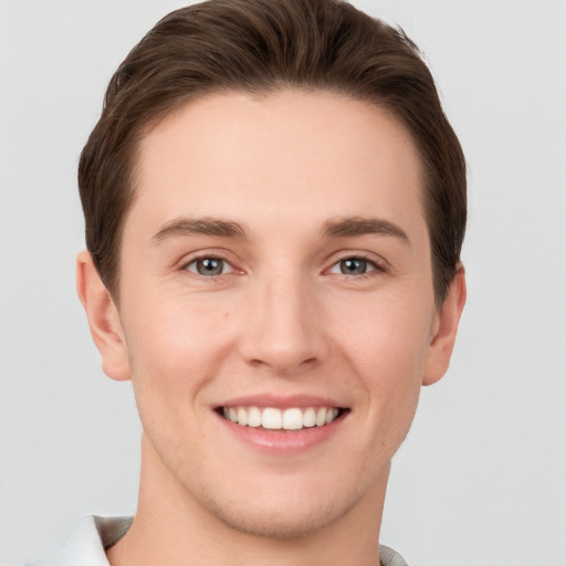
[[[240,347],[249,364],[286,377],[323,361],[329,348],[313,285],[301,276],[274,276],[253,285]]]

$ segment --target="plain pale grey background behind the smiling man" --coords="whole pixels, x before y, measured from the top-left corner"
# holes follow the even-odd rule
[[[74,291],[78,153],[112,72],[179,1],[0,1],[0,563],[135,510],[129,384]],[[394,461],[382,542],[413,566],[566,564],[566,2],[356,6],[419,43],[470,164],[469,303]]]

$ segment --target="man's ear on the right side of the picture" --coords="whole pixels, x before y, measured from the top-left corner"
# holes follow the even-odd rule
[[[458,323],[465,304],[465,273],[459,265],[447,297],[437,313],[433,336],[429,346],[422,385],[436,384],[448,370],[454,347]]]

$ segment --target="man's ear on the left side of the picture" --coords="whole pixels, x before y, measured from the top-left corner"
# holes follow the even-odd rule
[[[76,291],[102,355],[103,371],[118,381],[129,379],[128,352],[119,312],[86,250],[76,258]]]

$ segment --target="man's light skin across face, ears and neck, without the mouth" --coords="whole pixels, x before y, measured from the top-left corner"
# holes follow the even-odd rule
[[[138,511],[111,564],[379,564],[390,460],[465,300],[460,269],[434,304],[410,135],[332,93],[214,94],[147,133],[136,178],[119,310],[77,260],[103,368],[132,379],[144,427]],[[218,276],[198,271],[210,256]],[[259,450],[214,410],[304,395],[347,411],[295,452]]]

